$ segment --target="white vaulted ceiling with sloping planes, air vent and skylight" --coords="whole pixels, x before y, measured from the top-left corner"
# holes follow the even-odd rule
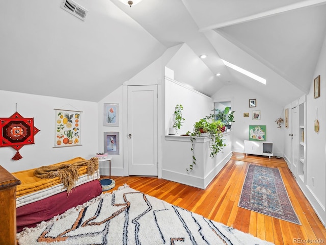
[[[167,64],[176,80],[208,96],[239,84],[285,105],[309,91],[326,34],[326,0],[74,1],[85,21],[60,0],[1,1],[1,90],[98,102],[184,43]]]

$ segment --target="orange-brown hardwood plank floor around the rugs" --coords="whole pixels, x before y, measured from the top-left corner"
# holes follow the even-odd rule
[[[280,169],[289,198],[302,225],[238,207],[242,184],[250,163]],[[157,178],[112,177],[112,179],[116,182],[116,187],[112,190],[126,183],[133,189],[277,245],[319,244],[315,239],[322,239],[321,244],[326,244],[326,229],[296,184],[283,159],[234,153],[205,190]]]

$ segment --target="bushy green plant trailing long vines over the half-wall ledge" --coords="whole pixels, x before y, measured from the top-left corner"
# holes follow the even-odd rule
[[[195,122],[193,132],[188,131],[187,135],[190,136],[190,140],[192,142],[192,154],[193,154],[193,162],[189,165],[189,169],[186,168],[187,172],[190,173],[193,170],[194,165],[196,165],[196,157],[194,153],[194,144],[196,137],[201,137],[203,134],[209,137],[209,149],[210,149],[210,157],[214,158],[216,154],[222,151],[225,143],[223,143],[223,132],[225,130],[225,125],[221,120],[215,120],[210,118],[211,116],[207,116],[205,118],[200,119]]]

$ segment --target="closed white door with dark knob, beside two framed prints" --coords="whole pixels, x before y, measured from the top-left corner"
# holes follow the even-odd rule
[[[128,174],[157,176],[157,86],[128,86]]]

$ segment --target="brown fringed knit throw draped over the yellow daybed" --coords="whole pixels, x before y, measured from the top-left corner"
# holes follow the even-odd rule
[[[90,160],[78,161],[73,164],[62,164],[59,166],[42,166],[34,171],[34,175],[41,179],[53,179],[59,177],[64,187],[69,193],[78,180],[79,167],[87,166],[87,174],[93,175],[98,169],[98,158],[92,157]]]

